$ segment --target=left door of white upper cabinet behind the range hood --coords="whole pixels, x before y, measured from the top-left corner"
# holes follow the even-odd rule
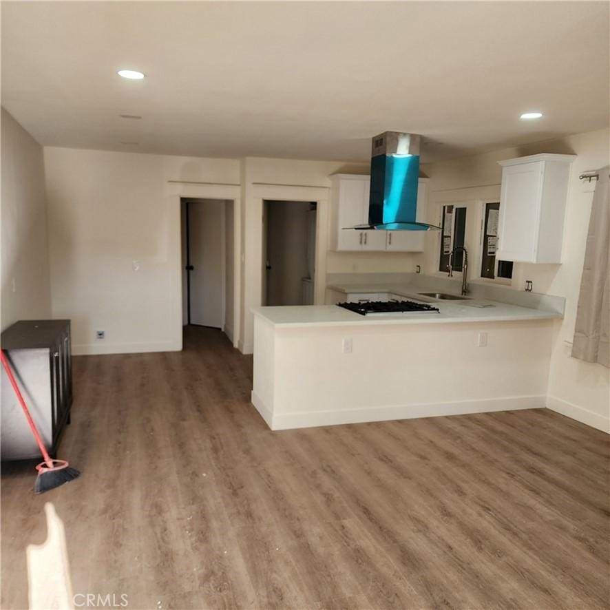
[[[339,180],[339,226],[337,250],[359,251],[363,247],[362,231],[346,229],[368,221],[368,180]]]

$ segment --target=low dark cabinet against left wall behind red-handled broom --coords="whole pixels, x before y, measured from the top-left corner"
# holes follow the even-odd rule
[[[0,342],[36,427],[53,455],[65,425],[70,423],[70,320],[21,320],[2,333]],[[38,447],[4,370],[2,376],[1,459],[37,457]]]

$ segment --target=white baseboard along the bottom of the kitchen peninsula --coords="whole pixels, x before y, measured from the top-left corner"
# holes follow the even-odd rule
[[[252,392],[252,403],[271,430],[313,428],[318,425],[363,423],[365,421],[386,421],[390,419],[414,419],[417,417],[440,417],[443,415],[463,415],[467,413],[485,413],[517,409],[542,409],[545,408],[545,400],[545,396],[518,396],[452,403],[421,403],[414,405],[392,405],[360,409],[273,414],[271,409],[263,403],[260,397],[258,397],[255,392]]]

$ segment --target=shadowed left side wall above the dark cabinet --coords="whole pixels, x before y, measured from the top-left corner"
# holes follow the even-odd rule
[[[1,329],[51,317],[43,149],[4,108],[1,118]]]

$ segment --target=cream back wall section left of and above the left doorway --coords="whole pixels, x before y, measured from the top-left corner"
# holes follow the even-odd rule
[[[239,162],[64,148],[44,156],[52,313],[72,319],[74,353],[180,349],[182,186],[168,180],[238,183]]]

